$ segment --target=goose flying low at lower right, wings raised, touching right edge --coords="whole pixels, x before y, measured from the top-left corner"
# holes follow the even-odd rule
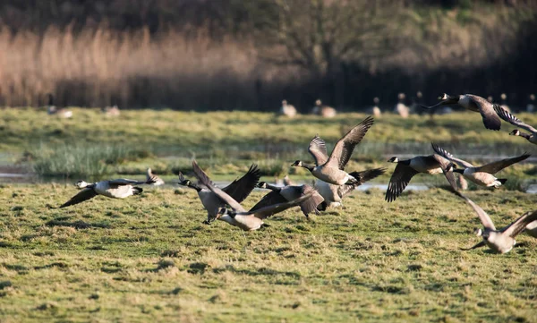
[[[483,241],[477,243],[469,250],[479,248],[486,244],[493,251],[498,251],[500,253],[509,252],[516,244],[516,235],[523,232],[526,228],[526,225],[533,225],[533,222],[537,221],[537,211],[530,211],[524,213],[522,217],[518,217],[510,225],[507,225],[500,230],[496,230],[496,227],[494,226],[494,223],[490,219],[489,215],[485,213],[485,211],[483,211],[479,205],[475,204],[473,200],[468,199],[459,191],[453,192],[470,204],[484,226],[483,229],[476,229],[474,231],[477,236],[482,237]]]

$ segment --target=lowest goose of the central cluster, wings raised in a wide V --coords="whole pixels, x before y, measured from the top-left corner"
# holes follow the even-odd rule
[[[313,191],[303,195],[297,200],[292,200],[290,202],[278,203],[275,205],[269,205],[264,208],[259,208],[257,210],[247,211],[237,200],[234,200],[226,191],[220,190],[217,188],[212,181],[209,179],[209,176],[201,170],[200,166],[196,164],[195,161],[192,161],[192,169],[194,174],[198,178],[201,184],[206,186],[215,196],[222,200],[222,205],[229,205],[232,210],[227,208],[220,208],[217,212],[216,218],[220,221],[226,221],[230,225],[238,226],[244,231],[257,230],[263,225],[263,219],[282,212],[287,208],[293,208],[303,203],[304,200],[308,200],[313,195]],[[208,221],[209,222],[209,221]]]

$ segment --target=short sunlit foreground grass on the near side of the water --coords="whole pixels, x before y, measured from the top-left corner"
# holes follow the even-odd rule
[[[532,322],[537,241],[505,255],[461,251],[479,238],[472,209],[441,190],[357,191],[307,221],[297,209],[243,233],[194,191],[146,189],[50,209],[76,190],[0,189],[2,322]],[[506,225],[533,195],[468,195]],[[245,201],[251,206],[262,192]]]

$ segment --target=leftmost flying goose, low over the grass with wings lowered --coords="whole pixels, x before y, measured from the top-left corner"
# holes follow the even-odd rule
[[[86,183],[84,181],[78,181],[74,185],[81,189],[78,194],[73,196],[71,200],[66,201],[59,208],[69,207],[84,200],[90,200],[97,195],[103,195],[112,199],[124,199],[131,195],[138,195],[143,190],[140,187],[133,185],[150,184],[151,180],[146,182],[139,182],[127,179],[117,179],[110,181],[101,181],[98,183]]]

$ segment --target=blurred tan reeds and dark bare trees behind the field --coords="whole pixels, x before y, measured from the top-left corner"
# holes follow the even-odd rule
[[[0,106],[358,111],[397,93],[525,106],[533,0],[4,0]]]

